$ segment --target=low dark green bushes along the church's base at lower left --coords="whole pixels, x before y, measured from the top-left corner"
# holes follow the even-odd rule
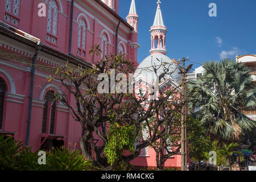
[[[38,164],[38,152],[24,148],[13,137],[0,135],[0,170],[18,171],[92,171],[97,170],[81,151],[55,148],[46,151],[46,165]]]

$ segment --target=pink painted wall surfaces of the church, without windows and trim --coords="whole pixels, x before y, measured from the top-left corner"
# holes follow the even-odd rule
[[[46,0],[45,2],[49,2],[50,0]],[[42,43],[48,47],[56,49],[65,54],[69,54],[69,23],[70,18],[69,15],[71,13],[71,5],[68,1],[64,0],[56,0],[58,6],[58,19],[57,19],[57,43],[49,43],[46,40],[47,35],[47,17],[39,17],[38,16],[38,4],[43,1],[40,0],[20,0],[19,7],[19,16],[16,17],[19,19],[19,25],[14,26],[10,22],[6,22],[4,20],[5,17],[5,1],[0,2],[0,20],[3,22],[11,24],[27,34],[31,34],[36,38],[42,40]],[[60,3],[61,2],[61,3]],[[73,32],[72,32],[72,49],[71,52],[73,55],[77,55],[77,41],[78,41],[78,30],[79,30],[79,20],[83,18],[86,22],[86,43],[85,43],[85,56],[79,56],[84,61],[91,61],[91,56],[89,55],[90,47],[95,44],[101,45],[101,33],[105,32],[108,35],[108,54],[115,52],[115,27],[116,24],[113,22],[117,22],[118,18],[115,15],[110,14],[110,19],[106,18],[105,15],[101,14],[99,10],[97,10],[94,6],[90,5],[86,1],[83,1],[85,7],[79,4],[79,2],[75,1],[78,5],[75,5],[73,10]],[[118,13],[118,0],[114,0],[114,9],[115,12]],[[100,10],[106,10],[106,7],[102,7],[98,5]],[[94,12],[91,12],[90,9],[93,9]],[[96,13],[95,13],[96,12]],[[47,3],[47,13],[48,13],[48,3]],[[128,14],[128,10],[127,10]],[[129,56],[129,59],[134,61],[134,64],[137,66],[137,46],[138,43],[138,33],[134,32],[127,24],[121,23],[121,27],[119,28],[119,42],[122,42],[123,46],[126,49],[126,53]],[[128,32],[128,33],[127,33]],[[0,35],[1,36],[1,35]],[[9,38],[5,38],[9,39]],[[129,44],[133,43],[132,45]],[[25,56],[24,53],[18,53],[17,51],[11,50],[9,47],[23,47],[15,42],[12,39],[2,40],[0,37],[0,51],[6,51],[12,54],[16,54],[20,56],[20,60],[22,57],[26,57],[31,59],[31,56],[34,54],[34,48],[30,48],[30,50],[26,50],[27,53],[30,53],[30,56]],[[135,44],[135,46],[134,46]],[[7,47],[6,47],[7,46]],[[20,48],[21,49],[21,48]],[[24,52],[26,52],[24,51]],[[41,53],[41,55],[40,55]],[[36,60],[37,64],[52,66],[52,64],[59,64],[59,59],[51,60],[51,56],[46,53],[40,52],[40,59]],[[43,60],[44,59],[48,60]],[[46,57],[46,58],[45,58]],[[100,59],[100,56],[97,57]],[[27,117],[28,117],[28,102],[29,102],[29,93],[30,93],[30,81],[31,81],[31,73],[30,73],[30,65],[14,63],[12,61],[12,56],[5,57],[2,59],[0,56],[0,77],[5,80],[6,83],[6,97],[4,103],[4,115],[3,115],[3,126],[0,131],[11,131],[16,132],[14,134],[15,139],[26,141],[26,133],[27,133]],[[50,64],[51,62],[51,64]],[[30,143],[32,146],[32,150],[38,150],[40,148],[40,140],[42,137],[42,122],[43,122],[43,108],[44,108],[44,96],[46,94],[46,90],[44,90],[44,86],[48,85],[48,81],[46,77],[48,73],[44,71],[36,70],[35,82],[34,82],[34,94],[33,94],[33,102],[32,102],[32,115],[31,115],[31,129],[30,129]],[[11,90],[11,82],[10,78],[13,79],[12,84],[15,86],[15,91]],[[58,87],[60,87],[59,83],[52,82],[55,87],[50,86],[57,92]],[[48,88],[48,89],[49,89]],[[71,103],[75,104],[75,100],[72,96],[69,97]],[[49,123],[48,123],[49,126]],[[72,144],[77,143],[79,146],[79,140],[81,137],[81,126],[79,122],[76,122],[72,115],[68,112],[67,108],[64,108],[60,102],[57,102],[56,111],[55,111],[55,130],[53,132],[54,135],[65,135],[64,137],[64,145],[68,147],[68,143]],[[49,130],[47,131],[47,134]],[[98,144],[102,144],[103,141],[99,141]],[[154,150],[150,149],[149,154],[150,157],[139,157],[133,160],[133,163],[138,166],[156,166],[155,165],[155,153]],[[180,161],[179,156],[175,156],[172,159],[168,159],[166,166],[180,166],[178,164]]]

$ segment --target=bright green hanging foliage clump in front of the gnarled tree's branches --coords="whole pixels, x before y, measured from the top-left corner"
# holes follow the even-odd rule
[[[111,123],[108,130],[108,142],[104,148],[104,154],[108,163],[113,165],[115,160],[125,150],[134,151],[135,126],[119,126],[118,123]]]

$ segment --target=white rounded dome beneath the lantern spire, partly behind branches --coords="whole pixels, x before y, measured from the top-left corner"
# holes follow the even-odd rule
[[[160,61],[158,61],[156,58],[159,59]],[[161,61],[162,61],[162,65],[161,65]],[[156,68],[160,67],[157,70],[157,74],[158,74],[158,76],[160,76],[164,72],[164,67],[163,67],[164,63],[166,63],[166,65],[165,65],[166,68],[168,68],[168,65],[171,64],[169,67],[169,72],[168,72],[168,73],[173,72],[171,74],[171,81],[174,81],[177,84],[179,84],[181,81],[181,74],[179,74],[180,71],[179,71],[177,64],[174,63],[174,61],[172,61],[170,59],[170,57],[163,55],[161,53],[149,55],[146,57],[146,59],[144,59],[141,62],[141,64],[139,64],[139,66],[137,67],[137,69],[134,72],[135,80],[137,80],[138,78],[144,78],[147,81],[155,82],[156,76],[152,69],[152,65],[156,65]],[[169,75],[165,76],[165,78],[168,78],[168,77],[169,77]]]

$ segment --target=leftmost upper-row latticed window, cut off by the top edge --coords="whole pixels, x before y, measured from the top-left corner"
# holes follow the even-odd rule
[[[19,26],[20,0],[5,0],[5,22]]]

